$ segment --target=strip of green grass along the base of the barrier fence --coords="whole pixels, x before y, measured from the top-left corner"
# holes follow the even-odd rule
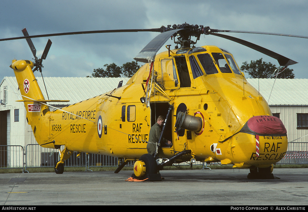
[[[207,167],[210,169],[232,169],[233,165],[216,165],[216,164],[209,164]],[[90,167],[90,169],[94,172],[98,171],[115,171],[117,167]],[[165,166],[164,170],[187,170],[187,169],[202,169],[202,165],[193,165],[191,168],[190,165],[181,165],[181,166]],[[279,164],[279,165],[274,165],[274,169],[283,169],[283,168],[291,168],[291,169],[296,169],[296,168],[308,168],[308,164],[302,164],[302,165],[296,165],[296,164]],[[122,170],[126,171],[132,171],[133,167],[132,166],[126,166]],[[27,168],[27,171],[29,173],[42,173],[42,172],[55,172],[55,169],[52,167],[37,167],[37,168]],[[86,167],[64,167],[65,172],[83,172],[86,171]],[[21,169],[0,169],[0,173],[22,173],[22,168]]]

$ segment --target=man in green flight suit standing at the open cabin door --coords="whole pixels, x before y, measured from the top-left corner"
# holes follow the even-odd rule
[[[149,132],[149,140],[147,144],[148,154],[154,155],[159,147],[157,147],[157,143],[160,138],[161,128],[160,126],[164,124],[165,118],[164,116],[158,116],[157,122],[151,127]],[[160,144],[168,144],[169,146],[172,145],[171,141],[168,141],[165,138],[162,138]]]

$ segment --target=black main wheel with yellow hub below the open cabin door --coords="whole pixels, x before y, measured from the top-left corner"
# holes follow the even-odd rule
[[[144,154],[134,164],[134,178],[145,179],[149,174],[157,173],[157,163],[154,157],[150,154]]]

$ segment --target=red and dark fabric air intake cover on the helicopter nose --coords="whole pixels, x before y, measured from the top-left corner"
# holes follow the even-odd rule
[[[240,132],[259,135],[282,135],[287,130],[282,121],[275,116],[253,116],[251,117]]]

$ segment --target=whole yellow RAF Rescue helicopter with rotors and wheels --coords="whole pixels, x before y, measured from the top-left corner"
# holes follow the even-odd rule
[[[296,62],[217,32],[281,34],[214,30],[186,23],[156,29],[34,36],[29,36],[26,29],[22,31],[23,37],[0,41],[26,39],[35,57],[34,63],[13,60],[10,67],[36,141],[42,147],[59,149],[55,173],[63,173],[64,161],[75,151],[122,159],[115,173],[128,161],[136,161],[132,176],[140,180],[161,181],[159,170],[185,161],[232,164],[234,168],[250,169],[248,178],[274,178],[272,165],[284,157],[288,145],[282,121],[272,116],[269,105],[246,81],[230,52],[216,46],[194,45],[201,34],[220,36],[269,55],[280,66],[287,67]],[[145,64],[126,85],[119,84],[100,96],[51,110],[48,102],[67,100],[46,100],[33,74],[35,70],[42,71],[42,60],[46,59],[51,41],[48,40],[42,58],[38,59],[31,38],[136,31],[161,33],[134,58]],[[167,51],[156,55],[169,38],[176,48],[166,46]],[[151,155],[147,152],[149,131],[160,115],[166,118],[156,152]],[[172,145],[164,145],[163,137]]]

